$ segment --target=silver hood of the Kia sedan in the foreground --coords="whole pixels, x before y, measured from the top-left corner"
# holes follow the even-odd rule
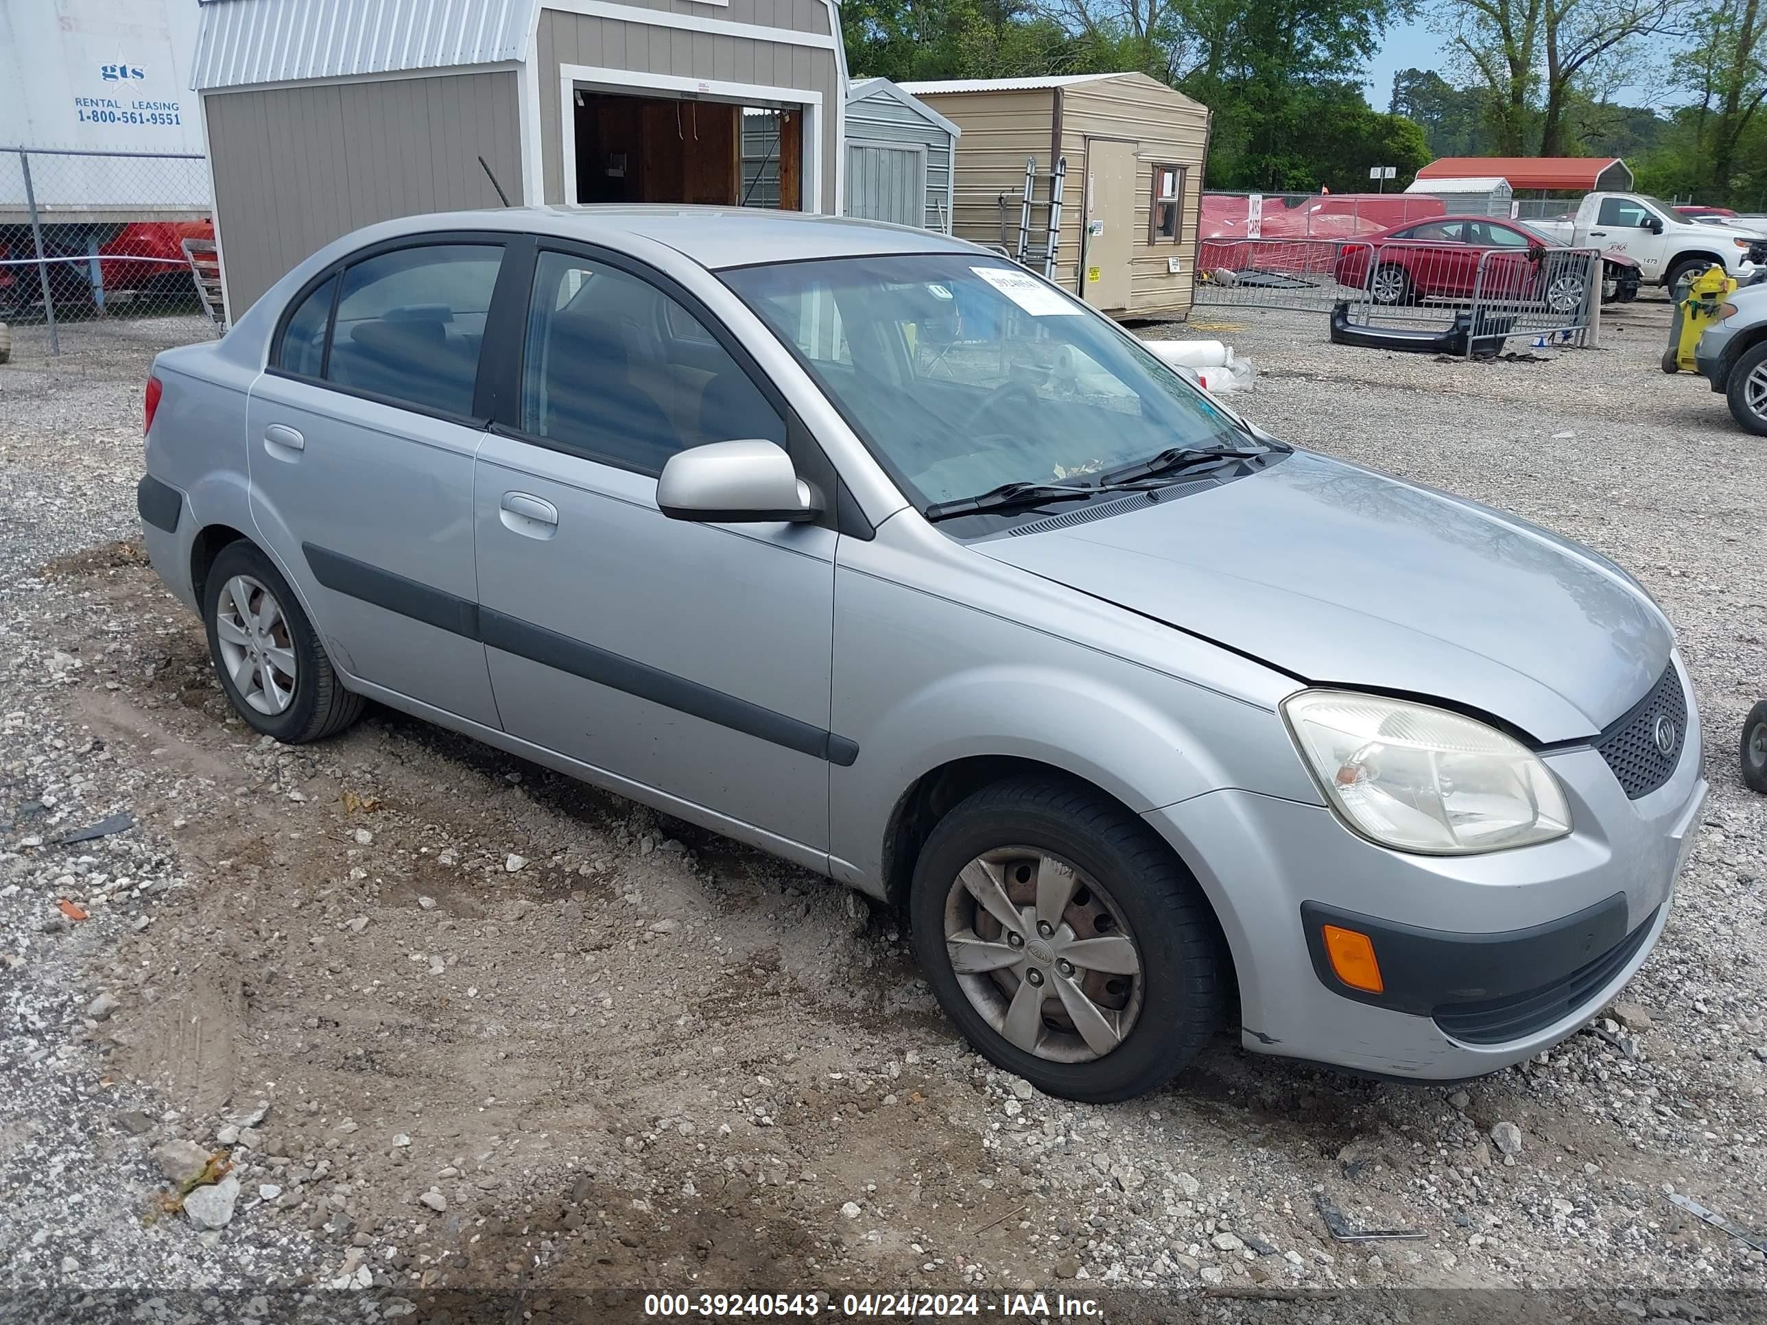
[[[1613,723],[1673,648],[1656,604],[1597,553],[1306,450],[972,546],[1301,680],[1440,698],[1543,744]]]

